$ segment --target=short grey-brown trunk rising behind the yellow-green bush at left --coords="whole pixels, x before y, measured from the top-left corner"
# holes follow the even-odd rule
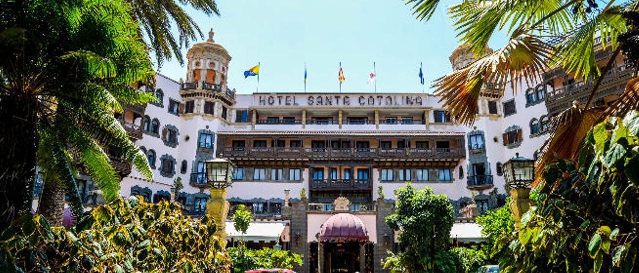
[[[49,179],[42,186],[42,195],[38,202],[38,214],[49,221],[51,226],[61,226],[65,213],[65,189],[58,181]]]

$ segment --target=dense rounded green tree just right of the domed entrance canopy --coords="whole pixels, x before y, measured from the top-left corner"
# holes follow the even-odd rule
[[[448,198],[435,195],[430,188],[415,189],[411,184],[396,194],[395,213],[385,221],[390,228],[401,230],[399,242],[406,250],[396,255],[399,265],[408,272],[456,271],[456,259],[448,251],[454,222]],[[395,267],[397,262],[389,260],[389,264]]]

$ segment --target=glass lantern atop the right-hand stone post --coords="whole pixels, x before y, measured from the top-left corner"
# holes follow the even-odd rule
[[[504,179],[511,188],[530,188],[535,181],[535,160],[516,153],[514,158],[504,163]]]

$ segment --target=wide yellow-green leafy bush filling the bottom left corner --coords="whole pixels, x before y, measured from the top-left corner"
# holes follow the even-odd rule
[[[231,260],[208,216],[135,196],[91,210],[72,229],[21,216],[0,235],[0,272],[226,272]]]

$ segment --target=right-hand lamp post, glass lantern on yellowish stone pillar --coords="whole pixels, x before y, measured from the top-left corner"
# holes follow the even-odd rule
[[[532,205],[530,200],[530,184],[535,181],[535,161],[534,159],[523,158],[519,153],[514,158],[504,163],[504,179],[511,187],[512,218],[515,220],[515,230],[521,227],[521,216],[525,214]]]

